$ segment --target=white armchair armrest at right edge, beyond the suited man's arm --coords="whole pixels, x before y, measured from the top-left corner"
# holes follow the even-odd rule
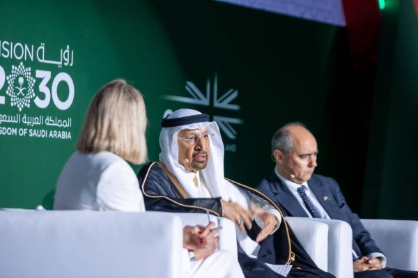
[[[361,219],[361,221],[387,257],[387,266],[418,271],[418,221],[387,219]]]

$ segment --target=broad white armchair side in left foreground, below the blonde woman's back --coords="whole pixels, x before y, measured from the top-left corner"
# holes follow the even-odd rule
[[[1,276],[180,278],[182,230],[172,213],[0,211]]]

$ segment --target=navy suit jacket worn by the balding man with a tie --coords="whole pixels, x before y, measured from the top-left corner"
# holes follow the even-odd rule
[[[364,229],[359,216],[348,207],[338,184],[333,178],[314,174],[308,180],[308,185],[331,219],[343,220],[350,224],[351,229],[353,229],[353,249],[358,255],[367,256],[373,252],[383,254],[371,238],[370,233]],[[295,196],[281,182],[274,171],[261,180],[257,189],[273,201],[280,203],[281,208],[283,208],[282,212],[286,215],[308,217]],[[328,197],[327,200],[325,200],[325,197]]]

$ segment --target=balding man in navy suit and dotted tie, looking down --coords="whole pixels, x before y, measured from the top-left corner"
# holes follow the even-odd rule
[[[288,123],[274,133],[274,171],[257,189],[295,217],[339,219],[353,229],[353,268],[360,277],[418,277],[418,272],[386,268],[387,258],[353,213],[332,178],[314,174],[318,145],[302,123]],[[371,271],[372,270],[372,271]]]

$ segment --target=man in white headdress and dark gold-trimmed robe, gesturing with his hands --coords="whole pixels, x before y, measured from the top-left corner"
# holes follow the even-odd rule
[[[231,219],[238,227],[238,261],[247,278],[282,277],[266,263],[292,264],[288,277],[333,277],[309,258],[278,206],[224,178],[224,144],[208,115],[174,111],[162,120],[160,147],[160,162],[146,164],[138,174],[147,210],[208,210]]]

